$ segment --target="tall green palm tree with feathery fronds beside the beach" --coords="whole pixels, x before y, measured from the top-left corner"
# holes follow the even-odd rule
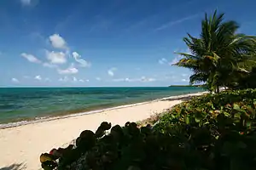
[[[234,75],[248,72],[246,65],[251,65],[256,50],[255,37],[237,34],[238,24],[223,20],[224,14],[217,11],[209,18],[206,14],[200,37],[188,34],[183,38],[191,54],[178,53],[183,59],[174,64],[194,72],[189,78],[191,84],[206,82],[207,88],[216,93],[220,86],[234,82]]]

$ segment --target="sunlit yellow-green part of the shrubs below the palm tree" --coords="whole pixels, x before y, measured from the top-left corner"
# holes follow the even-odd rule
[[[187,123],[202,126],[218,115],[252,124],[255,116],[256,90],[224,91],[220,94],[205,94],[172,108],[169,114],[160,118],[159,126]],[[166,124],[165,124],[166,123]]]

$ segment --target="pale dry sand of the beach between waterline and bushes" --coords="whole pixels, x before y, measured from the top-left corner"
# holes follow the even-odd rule
[[[41,153],[49,152],[52,148],[58,148],[69,143],[85,129],[95,131],[100,123],[104,121],[111,122],[112,125],[124,125],[128,121],[137,122],[181,103],[188,96],[201,94],[187,94],[140,105],[126,105],[90,115],[71,116],[48,122],[0,129],[2,155],[0,170],[40,169],[39,156]],[[17,166],[17,168],[10,168],[12,166]]]

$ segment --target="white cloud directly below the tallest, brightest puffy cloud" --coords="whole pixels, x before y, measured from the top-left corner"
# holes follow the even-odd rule
[[[67,62],[66,54],[63,52],[47,51],[46,58],[49,59],[49,62],[52,64],[64,64]]]

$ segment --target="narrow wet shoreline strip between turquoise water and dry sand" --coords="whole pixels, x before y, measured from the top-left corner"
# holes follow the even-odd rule
[[[191,95],[200,94],[201,95],[201,94],[206,94],[206,93],[208,93],[208,92],[204,91],[204,92],[196,92],[196,93],[189,93],[189,94],[191,94]],[[11,128],[11,127],[20,127],[20,126],[34,124],[34,123],[38,123],[38,122],[49,122],[49,121],[55,121],[55,120],[59,120],[59,119],[66,119],[66,118],[73,117],[73,116],[84,116],[84,115],[90,115],[90,114],[97,114],[97,113],[101,113],[103,111],[113,111],[115,109],[127,108],[127,107],[136,106],[136,105],[144,105],[144,104],[148,104],[151,102],[161,101],[161,100],[166,100],[166,99],[168,99],[168,100],[182,99],[182,98],[189,97],[189,94],[180,94],[180,95],[175,95],[175,96],[170,96],[170,97],[165,97],[165,98],[160,98],[160,99],[153,99],[153,100],[148,100],[148,101],[134,103],[134,104],[118,105],[118,106],[113,106],[113,107],[99,109],[99,110],[82,111],[82,112],[71,113],[71,114],[62,115],[62,116],[42,116],[42,117],[36,117],[34,119],[29,119],[29,120],[24,120],[24,121],[19,121],[19,122],[0,123],[0,130],[5,129],[5,128]]]

